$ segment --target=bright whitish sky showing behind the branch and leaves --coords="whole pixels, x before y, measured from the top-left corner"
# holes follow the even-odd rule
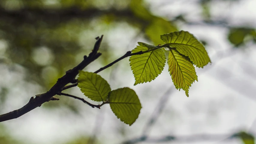
[[[200,18],[200,8],[195,4],[196,1],[151,0],[148,2],[156,14],[161,13],[166,16],[171,13],[172,16],[176,16],[179,13],[186,13],[188,19],[194,22]],[[230,25],[243,24],[255,27],[255,6],[255,0],[237,1],[234,4],[212,1],[211,12],[216,18],[227,19]],[[112,89],[130,87],[137,92],[143,109],[131,127],[116,119],[108,105],[98,110],[81,102],[77,102],[83,110],[81,115],[75,115],[65,109],[36,108],[4,124],[10,128],[14,136],[22,140],[37,144],[53,144],[59,143],[56,140],[65,142],[77,135],[91,135],[95,125],[102,123],[98,139],[103,143],[120,143],[142,134],[159,99],[172,86],[170,98],[151,129],[150,136],[232,134],[241,130],[256,132],[255,44],[248,45],[245,49],[232,49],[226,39],[228,32],[226,28],[206,25],[179,27],[191,32],[199,39],[209,40],[209,46],[206,49],[212,60],[212,64],[208,64],[204,69],[196,69],[198,82],[193,83],[189,89],[189,98],[185,96],[184,91],[174,88],[167,66],[154,81],[133,86],[134,77],[132,71],[128,70],[128,58],[125,58],[116,64],[114,78],[111,78],[109,73],[99,74],[108,80]],[[101,35],[100,31],[98,33]],[[103,34],[104,40],[117,51],[115,58],[133,49],[137,41],[146,42],[142,38],[132,41],[137,35],[137,30],[127,24],[119,24]],[[2,45],[4,45],[3,42],[0,42],[0,50]],[[97,65],[97,62],[94,62],[94,65]],[[38,85],[24,81],[26,70],[18,66],[16,68],[17,72],[9,73],[8,67],[0,64],[0,85],[12,87],[4,106],[6,112],[22,107],[31,96],[42,92]],[[89,70],[93,71],[97,68],[91,66]],[[72,88],[71,93],[83,97],[78,88]],[[96,121],[96,119],[100,120]],[[232,143],[240,142],[232,141]]]

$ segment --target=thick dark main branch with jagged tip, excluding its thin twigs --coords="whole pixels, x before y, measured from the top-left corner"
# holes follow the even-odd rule
[[[49,91],[40,95],[36,95],[35,98],[31,97],[29,102],[24,107],[18,110],[14,110],[12,112],[0,115],[0,122],[16,119],[28,113],[29,111],[40,107],[43,103],[53,100],[52,97],[56,94],[59,94],[65,85],[67,85],[68,83],[74,83],[75,77],[79,73],[78,71],[83,70],[88,64],[90,64],[101,55],[101,53],[98,52],[98,49],[101,45],[102,38],[103,35],[101,36],[101,38],[97,37],[97,41],[95,42],[94,48],[92,49],[92,52],[89,54],[89,56],[84,56],[84,60],[73,69],[68,70],[64,76],[58,79],[56,84],[53,85],[53,87],[50,88]]]

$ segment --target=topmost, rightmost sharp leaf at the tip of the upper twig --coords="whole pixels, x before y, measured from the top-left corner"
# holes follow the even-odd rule
[[[179,53],[188,56],[197,67],[211,62],[204,46],[189,32],[172,32],[161,35],[161,39],[170,47],[175,47]]]

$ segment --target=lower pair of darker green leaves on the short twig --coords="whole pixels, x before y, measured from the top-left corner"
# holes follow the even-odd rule
[[[91,100],[103,101],[122,122],[132,125],[140,114],[141,104],[135,91],[119,88],[111,91],[105,79],[96,73],[79,72],[78,87]]]

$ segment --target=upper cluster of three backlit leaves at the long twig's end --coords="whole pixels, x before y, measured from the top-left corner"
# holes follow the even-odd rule
[[[189,32],[180,31],[161,35],[162,46],[152,46],[139,42],[132,53],[143,51],[141,55],[132,55],[129,59],[131,70],[135,77],[135,84],[150,82],[160,74],[164,68],[165,55],[160,49],[169,48],[168,65],[173,84],[177,89],[183,89],[188,97],[188,89],[197,80],[193,64],[203,67],[210,58],[204,46]],[[149,50],[151,49],[151,51]]]

